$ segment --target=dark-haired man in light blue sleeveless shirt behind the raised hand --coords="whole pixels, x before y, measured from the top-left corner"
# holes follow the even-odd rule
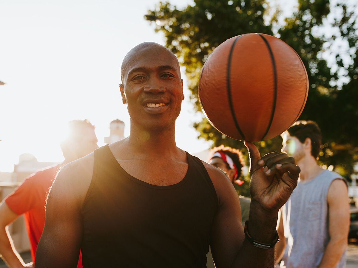
[[[314,121],[297,121],[282,139],[282,152],[295,158],[301,174],[281,209],[278,233],[285,239],[276,244],[277,257],[284,251],[281,267],[345,267],[347,185],[340,175],[317,164],[321,131]]]

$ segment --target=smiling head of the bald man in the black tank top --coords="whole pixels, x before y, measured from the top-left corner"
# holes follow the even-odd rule
[[[172,125],[183,100],[183,81],[175,55],[156,43],[132,49],[122,64],[122,101],[131,125],[160,130]]]

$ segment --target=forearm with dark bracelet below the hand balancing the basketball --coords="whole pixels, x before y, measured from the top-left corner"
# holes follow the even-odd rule
[[[270,244],[276,235],[277,212],[264,212],[253,202],[250,206],[248,231],[261,243]],[[274,267],[275,250],[252,245],[246,238],[232,267]]]

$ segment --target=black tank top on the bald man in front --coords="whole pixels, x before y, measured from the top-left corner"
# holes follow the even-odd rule
[[[183,180],[158,186],[125,172],[108,145],[95,150],[82,207],[84,268],[206,267],[218,199],[200,159],[187,158]]]

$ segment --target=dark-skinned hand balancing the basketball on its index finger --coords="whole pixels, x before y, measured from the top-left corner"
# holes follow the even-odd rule
[[[253,143],[244,144],[250,157],[251,199],[263,210],[278,213],[297,185],[300,168],[285,153],[269,153],[261,158]]]

